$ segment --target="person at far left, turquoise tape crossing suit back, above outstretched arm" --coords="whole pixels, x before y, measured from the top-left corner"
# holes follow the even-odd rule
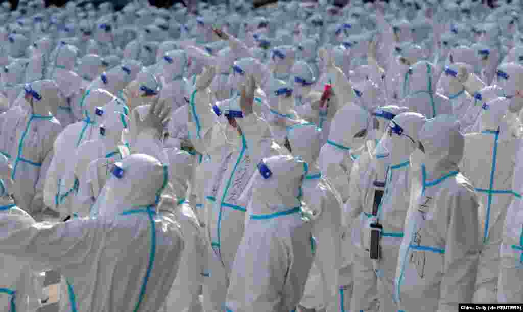
[[[43,188],[54,154],[53,143],[62,130],[60,122],[50,113],[56,103],[48,82],[39,80],[24,86],[21,105],[25,114],[16,128],[17,148],[12,159],[15,203],[37,221],[42,220],[42,213],[47,210]],[[56,86],[54,82],[52,85]]]

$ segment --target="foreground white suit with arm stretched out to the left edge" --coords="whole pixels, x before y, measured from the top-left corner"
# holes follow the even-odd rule
[[[95,219],[22,226],[2,215],[1,252],[60,269],[67,289],[62,312],[158,311],[184,249],[173,213],[155,209],[167,172],[153,157],[128,156],[113,170]]]

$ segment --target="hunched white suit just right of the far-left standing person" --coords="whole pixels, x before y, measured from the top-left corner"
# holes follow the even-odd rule
[[[85,107],[85,119],[63,129],[54,141],[54,155],[49,166],[44,187],[43,200],[46,206],[56,211],[61,211],[64,217],[70,215],[70,205],[64,205],[63,210],[59,208],[59,206],[65,198],[69,197],[71,191],[73,191],[71,186],[67,187],[65,185],[65,181],[70,180],[74,183],[72,173],[74,170],[73,158],[75,150],[81,143],[97,138],[98,128],[96,124],[99,116],[96,114],[96,107],[104,106],[114,99],[112,94],[102,89],[87,90],[83,98],[83,104],[81,106]],[[120,111],[123,112],[123,104],[120,104],[120,106]],[[71,176],[66,177],[67,175]],[[64,203],[67,203],[67,201]]]

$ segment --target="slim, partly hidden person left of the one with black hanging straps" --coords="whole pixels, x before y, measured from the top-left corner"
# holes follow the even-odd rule
[[[398,114],[407,111],[406,107],[395,105],[380,106],[367,119],[366,144],[358,159],[353,164],[350,173],[349,198],[345,203],[344,213],[346,224],[352,227],[353,251],[353,278],[354,291],[351,298],[353,311],[378,311],[379,297],[377,275],[370,258],[370,239],[368,228],[372,221],[372,207],[377,191],[383,191],[386,165],[377,166],[373,161],[378,145],[376,138],[382,137],[390,121]],[[384,167],[384,168],[383,168]],[[357,286],[356,286],[357,285]]]

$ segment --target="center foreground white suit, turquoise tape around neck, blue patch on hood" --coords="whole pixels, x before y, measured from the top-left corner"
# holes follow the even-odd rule
[[[276,155],[261,160],[258,168],[225,311],[293,311],[312,263],[311,224],[301,218],[299,199],[306,165]]]

